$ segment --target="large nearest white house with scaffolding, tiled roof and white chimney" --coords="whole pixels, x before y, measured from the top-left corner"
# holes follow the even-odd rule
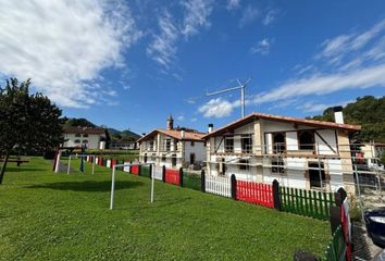
[[[207,173],[283,186],[353,192],[350,137],[361,126],[252,113],[213,130],[209,125]]]

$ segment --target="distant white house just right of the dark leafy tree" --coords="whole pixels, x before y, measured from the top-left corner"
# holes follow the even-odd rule
[[[64,127],[64,147],[104,149],[105,130],[100,127]]]

